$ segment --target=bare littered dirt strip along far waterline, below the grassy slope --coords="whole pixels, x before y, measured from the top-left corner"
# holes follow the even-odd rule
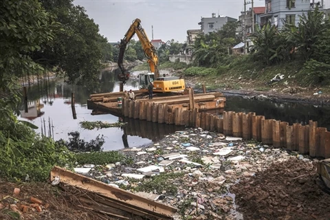
[[[330,105],[330,91],[319,87],[298,87],[296,85],[267,85],[254,80],[239,78],[189,77],[184,76],[187,86],[201,92],[201,84],[207,91],[221,91],[228,96],[267,96],[278,102],[304,102],[307,104]]]

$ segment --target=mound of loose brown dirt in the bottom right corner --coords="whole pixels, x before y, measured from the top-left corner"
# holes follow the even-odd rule
[[[244,219],[330,219],[330,196],[314,183],[316,163],[290,159],[232,187]]]

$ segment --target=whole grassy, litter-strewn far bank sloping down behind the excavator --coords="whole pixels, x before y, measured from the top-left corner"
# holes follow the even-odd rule
[[[183,76],[187,87],[201,91],[206,85],[208,91],[221,91],[223,94],[265,98],[278,102],[303,102],[306,104],[330,105],[330,87],[312,86],[308,76],[302,76],[298,64],[285,64],[272,67],[244,66],[225,68],[225,70],[188,67],[185,63],[162,63],[159,70],[168,70]],[[146,70],[147,65],[138,65],[133,70]],[[203,72],[201,75],[201,71]],[[277,75],[277,78],[275,76]],[[281,79],[280,79],[281,78]],[[305,83],[303,80],[307,80]],[[308,83],[309,82],[309,83]]]

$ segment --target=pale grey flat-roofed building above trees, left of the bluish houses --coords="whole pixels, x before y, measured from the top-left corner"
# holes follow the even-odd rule
[[[216,32],[222,28],[228,22],[236,22],[237,19],[231,17],[215,16],[215,13],[212,13],[210,18],[201,18],[201,22],[198,24],[201,25],[201,32],[203,34],[208,34],[210,32]]]

